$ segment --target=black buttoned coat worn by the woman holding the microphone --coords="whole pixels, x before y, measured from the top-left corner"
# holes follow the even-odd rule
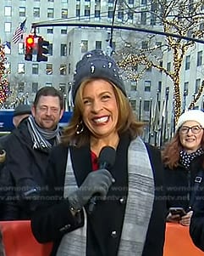
[[[116,182],[112,186],[128,186],[126,171],[127,149],[130,140],[122,139],[117,150],[116,162],[113,168],[113,177]],[[163,165],[160,152],[152,146],[148,146],[152,168],[155,177],[155,199],[153,203],[152,216],[146,235],[146,243],[143,256],[162,256],[165,234],[166,200],[163,187]],[[71,159],[74,164],[74,174],[78,185],[85,179],[91,170],[91,154],[88,146],[76,149],[70,148]],[[126,153],[125,153],[126,152]],[[56,255],[58,244],[63,234],[79,228],[83,225],[77,221],[69,211],[69,202],[63,199],[63,184],[66,169],[68,148],[58,145],[52,149],[49,168],[47,168],[47,180],[50,187],[56,190],[52,200],[41,203],[33,214],[31,227],[34,236],[39,242],[54,242],[52,256]],[[83,170],[83,171],[82,171]],[[127,190],[109,190],[108,195],[113,198],[125,198]],[[109,194],[110,193],[110,194]],[[48,198],[48,197],[45,197]],[[86,244],[86,255],[116,256],[119,249],[119,241],[123,226],[125,203],[119,199],[107,202],[98,202],[91,217],[88,216],[88,233]],[[92,232],[89,225],[94,226],[96,232]],[[116,236],[112,236],[112,231]],[[156,235],[157,234],[157,235]]]

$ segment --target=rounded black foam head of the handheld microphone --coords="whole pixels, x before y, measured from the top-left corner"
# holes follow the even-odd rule
[[[114,165],[116,151],[112,146],[104,146],[98,156],[100,168],[111,168]]]

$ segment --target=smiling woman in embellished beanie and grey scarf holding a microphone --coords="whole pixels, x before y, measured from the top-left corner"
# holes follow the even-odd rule
[[[124,82],[101,50],[76,65],[74,112],[47,165],[31,218],[51,255],[162,256],[166,201],[160,151],[140,137]]]

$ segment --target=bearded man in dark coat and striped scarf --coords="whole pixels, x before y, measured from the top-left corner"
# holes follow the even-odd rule
[[[6,140],[6,162],[0,174],[2,220],[30,219],[30,196],[35,196],[40,187],[45,189],[47,159],[60,140],[62,94],[53,87],[41,88],[31,112]]]

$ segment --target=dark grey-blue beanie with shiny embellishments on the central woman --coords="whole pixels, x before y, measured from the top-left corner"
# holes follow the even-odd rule
[[[80,88],[81,82],[87,78],[104,78],[113,82],[115,86],[121,89],[126,96],[124,81],[119,75],[119,67],[112,57],[104,54],[100,49],[94,49],[86,53],[76,64],[74,72],[74,82],[72,86],[72,99]]]

